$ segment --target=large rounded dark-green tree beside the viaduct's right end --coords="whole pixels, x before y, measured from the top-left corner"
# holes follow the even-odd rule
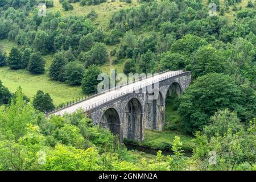
[[[239,114],[243,110],[241,90],[230,76],[220,73],[208,73],[197,78],[181,94],[179,101],[181,127],[188,133],[202,130],[217,110],[227,107]]]

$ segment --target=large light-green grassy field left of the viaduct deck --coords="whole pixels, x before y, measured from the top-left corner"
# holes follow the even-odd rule
[[[55,105],[82,97],[82,90],[78,86],[68,86],[51,81],[47,75],[31,75],[28,71],[13,71],[8,67],[0,68],[0,79],[11,92],[21,86],[26,96],[32,98],[38,90],[49,93]]]

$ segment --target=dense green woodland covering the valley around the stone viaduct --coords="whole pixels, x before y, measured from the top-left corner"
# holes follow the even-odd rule
[[[95,23],[94,10],[63,14],[77,3],[105,1],[64,0],[60,10],[38,16],[40,2],[47,10],[55,7],[52,0],[0,2],[0,40],[16,45],[9,53],[0,47],[0,67],[47,74],[52,82],[80,86],[84,94],[96,92],[100,67],[110,60],[125,60],[125,74],[191,71],[191,85],[172,102],[179,121],[165,129],[193,135],[193,154],[184,155],[177,136],[169,148],[175,155],[159,151],[151,159],[138,158],[81,110],[48,119],[44,113],[56,107],[48,93],[38,90],[32,99],[22,88],[11,93],[0,77],[0,169],[256,169],[255,1],[138,1],[115,11],[106,28]],[[209,16],[210,2],[216,3],[217,16]],[[42,151],[46,161],[39,164]],[[216,165],[209,164],[209,151],[217,152]]]

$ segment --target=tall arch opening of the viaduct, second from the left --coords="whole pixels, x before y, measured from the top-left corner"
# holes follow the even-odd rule
[[[143,109],[137,98],[131,99],[123,114],[123,123],[126,124],[127,131],[124,137],[131,140],[141,141],[143,139]]]

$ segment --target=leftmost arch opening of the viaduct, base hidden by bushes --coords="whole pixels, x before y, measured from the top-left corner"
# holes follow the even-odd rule
[[[100,125],[105,129],[109,129],[114,135],[118,135],[119,140],[122,139],[122,129],[119,114],[114,108],[110,108],[104,112]]]

